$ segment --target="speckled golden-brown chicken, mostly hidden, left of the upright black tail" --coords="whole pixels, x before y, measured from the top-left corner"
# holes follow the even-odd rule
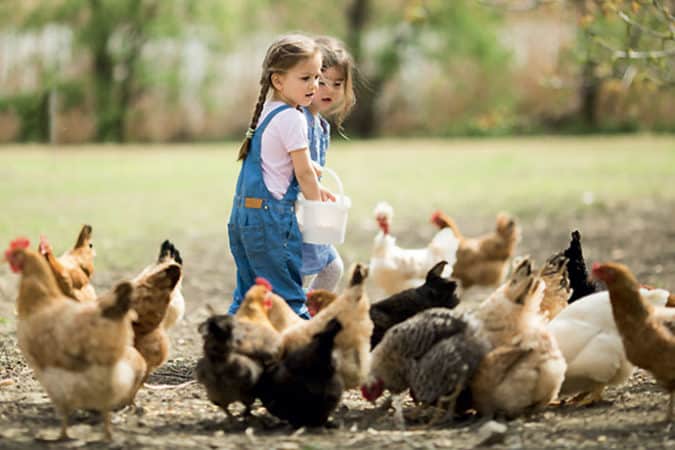
[[[546,260],[539,276],[546,283],[540,312],[546,321],[550,321],[565,309],[572,293],[567,277],[567,258],[562,252],[555,253]]]

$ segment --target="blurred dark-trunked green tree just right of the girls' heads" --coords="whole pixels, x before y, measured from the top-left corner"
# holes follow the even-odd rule
[[[488,81],[503,75],[503,70],[496,68],[508,65],[508,54],[496,34],[498,14],[486,13],[471,0],[392,3],[351,0],[345,10],[347,45],[363,76],[363,82],[357,85],[357,108],[347,128],[361,136],[376,133],[376,100],[384,86],[409,63],[407,55],[422,55],[442,70],[470,59]]]

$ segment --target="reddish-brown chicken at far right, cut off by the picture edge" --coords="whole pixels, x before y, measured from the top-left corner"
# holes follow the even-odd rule
[[[609,289],[612,316],[628,360],[648,371],[670,393],[666,421],[675,405],[675,310],[651,305],[628,267],[594,264],[593,277]]]

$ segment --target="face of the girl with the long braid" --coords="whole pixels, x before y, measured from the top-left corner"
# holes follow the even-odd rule
[[[272,74],[276,98],[293,107],[309,106],[321,75],[321,54],[303,59],[284,73]]]

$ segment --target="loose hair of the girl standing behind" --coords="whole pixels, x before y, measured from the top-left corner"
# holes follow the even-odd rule
[[[344,75],[344,98],[333,112],[333,120],[338,127],[338,131],[342,132],[342,123],[349,115],[356,104],[356,96],[354,95],[354,58],[349,54],[342,41],[331,36],[319,36],[314,39],[321,49],[322,64],[321,70],[336,67],[340,69]]]

